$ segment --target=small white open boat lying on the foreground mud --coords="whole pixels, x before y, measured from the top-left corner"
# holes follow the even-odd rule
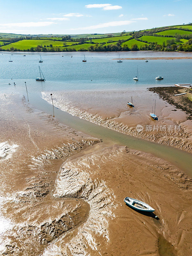
[[[148,204],[146,204],[140,200],[128,197],[128,196],[125,197],[124,202],[126,204],[128,204],[134,210],[138,210],[141,212],[154,212],[155,211],[155,209],[153,209]]]

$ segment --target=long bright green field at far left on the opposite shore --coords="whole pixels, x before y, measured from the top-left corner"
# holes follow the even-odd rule
[[[33,39],[25,40],[24,39],[12,44],[4,45],[2,48],[7,50],[7,49],[10,49],[11,47],[14,47],[20,50],[27,50],[27,49],[30,49],[31,47],[36,47],[37,45],[47,46],[52,44],[53,46],[61,47],[63,46],[63,43],[64,43],[63,41],[61,42],[61,41],[52,41],[52,40],[33,40]],[[71,45],[71,44],[74,44],[74,42],[66,42],[66,44]]]

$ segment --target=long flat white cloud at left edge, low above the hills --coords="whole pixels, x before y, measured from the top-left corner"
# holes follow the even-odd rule
[[[30,27],[45,27],[52,24],[57,24],[52,21],[38,21],[38,22],[21,22],[21,23],[1,23],[1,28],[30,28]]]

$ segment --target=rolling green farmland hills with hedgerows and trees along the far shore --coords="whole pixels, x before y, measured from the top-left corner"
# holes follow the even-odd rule
[[[133,49],[132,45],[136,44],[137,47],[134,47],[134,50],[190,51],[192,31],[184,29],[192,29],[192,25],[110,34],[18,35],[0,33],[0,48],[1,51],[32,52],[129,51]]]

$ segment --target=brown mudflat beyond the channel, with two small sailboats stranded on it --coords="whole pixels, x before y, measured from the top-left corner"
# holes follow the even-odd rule
[[[49,103],[49,92],[42,97]],[[133,98],[134,108],[127,106]],[[150,112],[156,115],[154,121]],[[92,123],[138,138],[192,152],[192,121],[189,114],[147,89],[64,91],[53,93],[54,106]],[[137,125],[143,130],[137,130]]]

